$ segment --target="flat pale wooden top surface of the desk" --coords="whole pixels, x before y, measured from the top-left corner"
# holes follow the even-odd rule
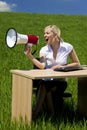
[[[51,69],[11,70],[10,72],[30,79],[87,77],[87,69],[69,72],[53,71]]]

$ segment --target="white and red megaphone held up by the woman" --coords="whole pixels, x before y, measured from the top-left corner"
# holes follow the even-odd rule
[[[6,45],[13,48],[16,44],[28,44],[28,46],[37,45],[39,37],[36,35],[24,35],[16,32],[14,28],[9,28],[6,32]]]

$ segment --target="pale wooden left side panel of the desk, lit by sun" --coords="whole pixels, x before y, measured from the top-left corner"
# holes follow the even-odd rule
[[[32,120],[32,79],[13,74],[12,80],[12,120],[31,123]]]

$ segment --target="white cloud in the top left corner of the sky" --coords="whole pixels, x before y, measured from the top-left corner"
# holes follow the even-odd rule
[[[10,12],[12,9],[16,7],[16,4],[9,4],[5,1],[0,1],[0,12]]]

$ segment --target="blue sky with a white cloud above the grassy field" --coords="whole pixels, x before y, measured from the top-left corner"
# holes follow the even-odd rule
[[[87,0],[0,0],[0,12],[87,15]]]

